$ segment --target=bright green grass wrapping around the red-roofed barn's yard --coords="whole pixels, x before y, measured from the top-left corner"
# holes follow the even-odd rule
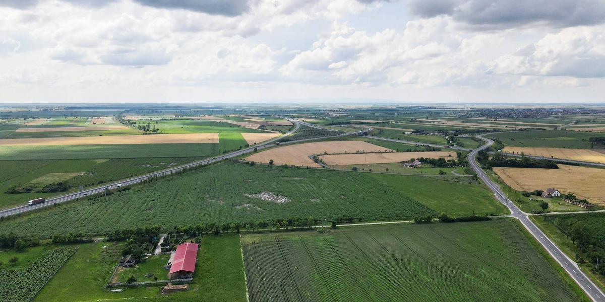
[[[57,272],[35,301],[246,301],[244,265],[240,239],[236,235],[203,237],[194,283],[188,292],[162,295],[161,286],[139,286],[123,292],[111,292],[105,289],[105,285],[119,258],[119,250],[113,249],[113,243],[80,245],[76,254]]]

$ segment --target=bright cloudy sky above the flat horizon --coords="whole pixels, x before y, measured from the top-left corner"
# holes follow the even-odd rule
[[[605,0],[0,0],[0,103],[604,103]]]

